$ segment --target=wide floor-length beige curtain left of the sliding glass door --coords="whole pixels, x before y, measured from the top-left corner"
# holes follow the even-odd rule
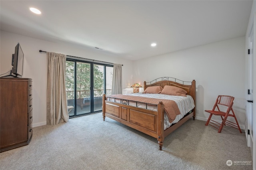
[[[47,125],[68,122],[66,55],[47,52]]]

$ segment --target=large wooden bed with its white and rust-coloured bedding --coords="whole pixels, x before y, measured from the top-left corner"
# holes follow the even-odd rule
[[[178,87],[179,89],[186,91],[186,97],[190,98],[192,101],[192,108],[190,107],[189,111],[186,113],[183,113],[184,111],[181,111],[183,110],[182,107],[184,106],[184,104],[177,104],[175,105],[175,107],[173,107],[174,109],[167,108],[167,106],[171,106],[171,104],[169,103],[169,101],[167,101],[165,96],[162,96],[162,98],[159,97],[159,99],[157,99],[157,97],[154,97],[154,95],[151,96],[151,98],[140,97],[145,99],[142,101],[138,101],[135,100],[136,98],[133,97],[134,95],[136,95],[135,93],[110,96],[106,96],[104,94],[102,99],[103,121],[105,121],[105,117],[108,117],[124,125],[127,125],[128,127],[134,128],[140,132],[148,134],[158,140],[159,149],[162,150],[164,138],[168,136],[171,132],[176,130],[178,127],[180,127],[183,123],[188,121],[188,119],[193,118],[194,120],[196,116],[195,80],[190,82],[182,81],[172,77],[160,77],[150,82],[144,81],[144,92],[148,91],[148,89],[156,89],[159,87],[162,88],[162,91],[164,91],[164,89],[166,89],[164,88],[164,86],[171,86],[171,88]],[[138,95],[144,94],[138,93]],[[156,103],[156,101],[158,102]],[[172,102],[177,103],[176,100]],[[168,112],[177,112],[176,106],[180,110],[180,113],[176,113],[177,116],[175,117],[170,116]],[[169,125],[166,125],[166,121],[171,120],[170,117],[172,117],[172,119],[174,120],[172,120],[172,122],[169,123]]]

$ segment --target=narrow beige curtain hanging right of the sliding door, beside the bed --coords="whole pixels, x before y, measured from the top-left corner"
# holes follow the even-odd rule
[[[122,65],[114,64],[112,95],[122,94]]]

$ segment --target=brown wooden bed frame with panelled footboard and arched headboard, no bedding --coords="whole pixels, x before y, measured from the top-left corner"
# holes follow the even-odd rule
[[[172,80],[172,81],[171,81]],[[181,81],[172,77],[161,77],[150,82],[144,81],[144,90],[150,86],[165,85],[176,86],[186,90],[187,95],[192,96],[196,105],[196,81],[192,82]],[[107,96],[103,95],[102,101],[102,115],[103,120],[109,117],[118,121],[128,127],[134,128],[140,132],[148,134],[158,140],[159,149],[162,150],[164,138],[173,132],[176,128],[180,127],[183,123],[188,121],[191,117],[195,120],[196,107],[187,113],[178,123],[173,124],[171,127],[164,130],[164,104],[159,102],[157,111],[142,109],[126,105],[127,100],[121,103],[107,101]]]

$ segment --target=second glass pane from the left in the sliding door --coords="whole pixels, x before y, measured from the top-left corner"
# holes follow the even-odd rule
[[[90,72],[90,63],[76,62],[76,115],[91,112]]]

